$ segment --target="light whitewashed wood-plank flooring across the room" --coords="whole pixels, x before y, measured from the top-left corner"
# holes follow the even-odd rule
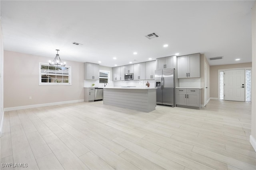
[[[2,170],[256,169],[247,102],[150,113],[80,102],[7,111],[3,126]]]

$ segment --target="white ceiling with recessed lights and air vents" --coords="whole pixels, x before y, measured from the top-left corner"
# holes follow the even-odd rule
[[[203,53],[207,59],[224,56],[210,65],[252,61],[250,0],[0,3],[8,51],[53,59],[55,49],[60,49],[62,61],[101,61],[110,67],[175,53]],[[147,39],[152,32],[160,37]],[[83,45],[73,45],[74,41]]]

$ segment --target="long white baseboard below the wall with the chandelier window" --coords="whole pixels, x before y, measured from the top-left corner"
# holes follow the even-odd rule
[[[12,110],[20,110],[20,109],[29,109],[29,108],[44,107],[44,106],[54,106],[54,105],[70,104],[70,103],[77,103],[77,102],[84,102],[84,99],[82,99],[82,100],[64,101],[64,102],[54,102],[54,103],[35,104],[35,105],[27,105],[27,106],[6,107],[6,108],[4,108],[4,111],[12,111]]]

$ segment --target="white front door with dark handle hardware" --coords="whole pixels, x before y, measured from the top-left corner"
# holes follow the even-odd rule
[[[244,102],[244,69],[225,70],[225,100]]]

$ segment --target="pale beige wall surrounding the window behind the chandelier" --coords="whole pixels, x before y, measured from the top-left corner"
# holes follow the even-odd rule
[[[71,86],[39,86],[39,63],[53,57],[4,51],[4,108],[84,99],[84,63],[66,61],[71,66]]]

